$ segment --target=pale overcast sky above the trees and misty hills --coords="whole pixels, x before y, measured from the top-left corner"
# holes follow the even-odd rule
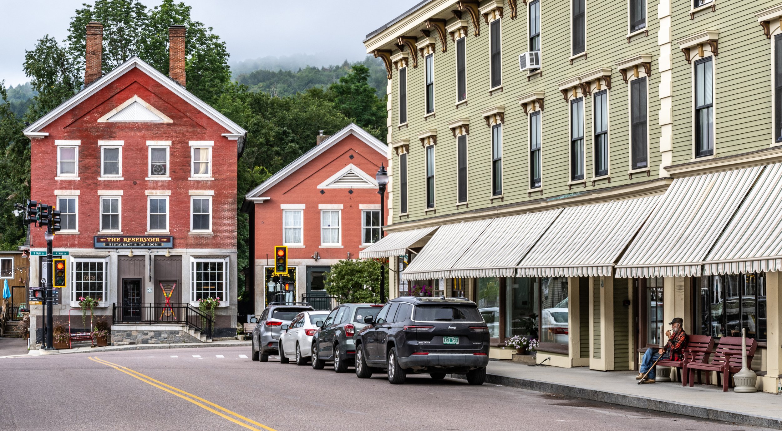
[[[0,80],[27,82],[24,50],[45,34],[62,41],[70,17],[90,0],[0,0]],[[228,45],[231,62],[267,55],[328,55],[332,64],[364,59],[364,37],[418,0],[185,0]],[[147,6],[160,0],[142,0]],[[321,66],[321,65],[317,65]]]

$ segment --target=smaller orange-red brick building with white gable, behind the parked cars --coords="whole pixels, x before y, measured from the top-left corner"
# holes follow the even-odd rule
[[[318,136],[310,151],[246,194],[242,210],[250,215],[256,315],[274,297],[267,284],[275,245],[288,247],[287,299],[313,301],[325,296],[323,273],[330,265],[358,258],[379,239],[375,175],[387,152],[386,144],[350,124],[330,137]]]

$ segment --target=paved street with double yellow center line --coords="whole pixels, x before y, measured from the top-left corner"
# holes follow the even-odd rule
[[[0,429],[757,429],[425,375],[391,386],[252,362],[249,347],[6,358],[0,370]]]

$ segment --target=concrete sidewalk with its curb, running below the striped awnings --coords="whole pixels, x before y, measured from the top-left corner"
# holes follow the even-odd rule
[[[639,385],[632,371],[594,371],[587,367],[563,369],[529,367],[491,361],[487,383],[514,386],[677,415],[694,416],[750,426],[782,429],[782,397],[756,392],[723,392],[722,386],[683,387],[681,383]],[[464,378],[464,376],[457,376]]]

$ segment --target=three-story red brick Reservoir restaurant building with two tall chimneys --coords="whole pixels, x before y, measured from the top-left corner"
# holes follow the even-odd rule
[[[56,317],[66,320],[79,297],[99,299],[95,314],[117,322],[114,344],[140,342],[132,322],[160,315],[163,341],[188,340],[188,328],[165,319],[172,310],[145,309],[167,297],[185,308],[220,297],[214,336],[235,334],[236,159],[246,131],[185,89],[184,41],[185,27],[171,27],[171,77],[138,57],[102,75],[102,26],[88,24],[84,89],[25,129],[30,196],[62,213],[54,248],[68,254],[68,277]],[[32,230],[31,251],[45,251],[44,229]],[[30,280],[45,276],[42,260],[31,257]]]

